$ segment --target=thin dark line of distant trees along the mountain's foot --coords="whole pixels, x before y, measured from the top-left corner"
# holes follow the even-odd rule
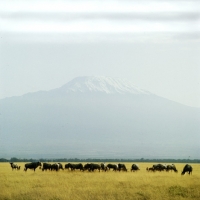
[[[99,159],[99,158],[58,158],[58,159],[27,159],[27,158],[0,158],[0,162],[154,162],[154,163],[200,163],[200,159]]]

